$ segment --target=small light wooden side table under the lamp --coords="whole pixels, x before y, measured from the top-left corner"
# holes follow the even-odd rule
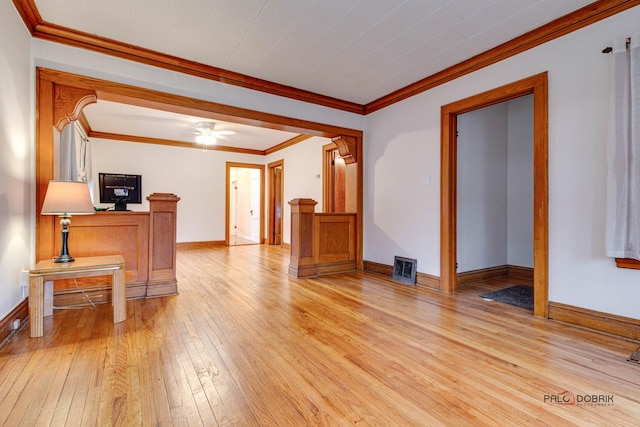
[[[29,271],[29,323],[31,338],[43,334],[43,319],[53,314],[53,281],[112,274],[113,323],[127,319],[124,258],[122,255],[76,258],[70,263],[40,261]]]

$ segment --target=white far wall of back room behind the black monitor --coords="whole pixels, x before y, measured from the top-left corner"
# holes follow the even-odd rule
[[[142,204],[127,204],[133,211],[148,211],[147,196],[173,193],[178,202],[178,242],[221,241],[225,238],[226,162],[263,164],[261,156],[209,150],[91,139],[93,144],[94,204],[98,201],[98,173],[142,175]]]

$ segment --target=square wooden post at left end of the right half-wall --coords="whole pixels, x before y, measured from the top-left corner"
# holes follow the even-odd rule
[[[291,259],[289,274],[294,277],[315,275],[313,257],[313,216],[316,202],[313,199],[293,199],[291,206]]]

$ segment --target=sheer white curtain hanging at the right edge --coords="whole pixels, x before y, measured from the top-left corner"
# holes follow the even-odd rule
[[[606,250],[640,260],[640,33],[616,40],[612,56]]]

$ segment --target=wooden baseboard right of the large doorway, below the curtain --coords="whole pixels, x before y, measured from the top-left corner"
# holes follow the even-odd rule
[[[632,340],[640,340],[640,319],[574,307],[559,302],[549,303],[549,319]]]

